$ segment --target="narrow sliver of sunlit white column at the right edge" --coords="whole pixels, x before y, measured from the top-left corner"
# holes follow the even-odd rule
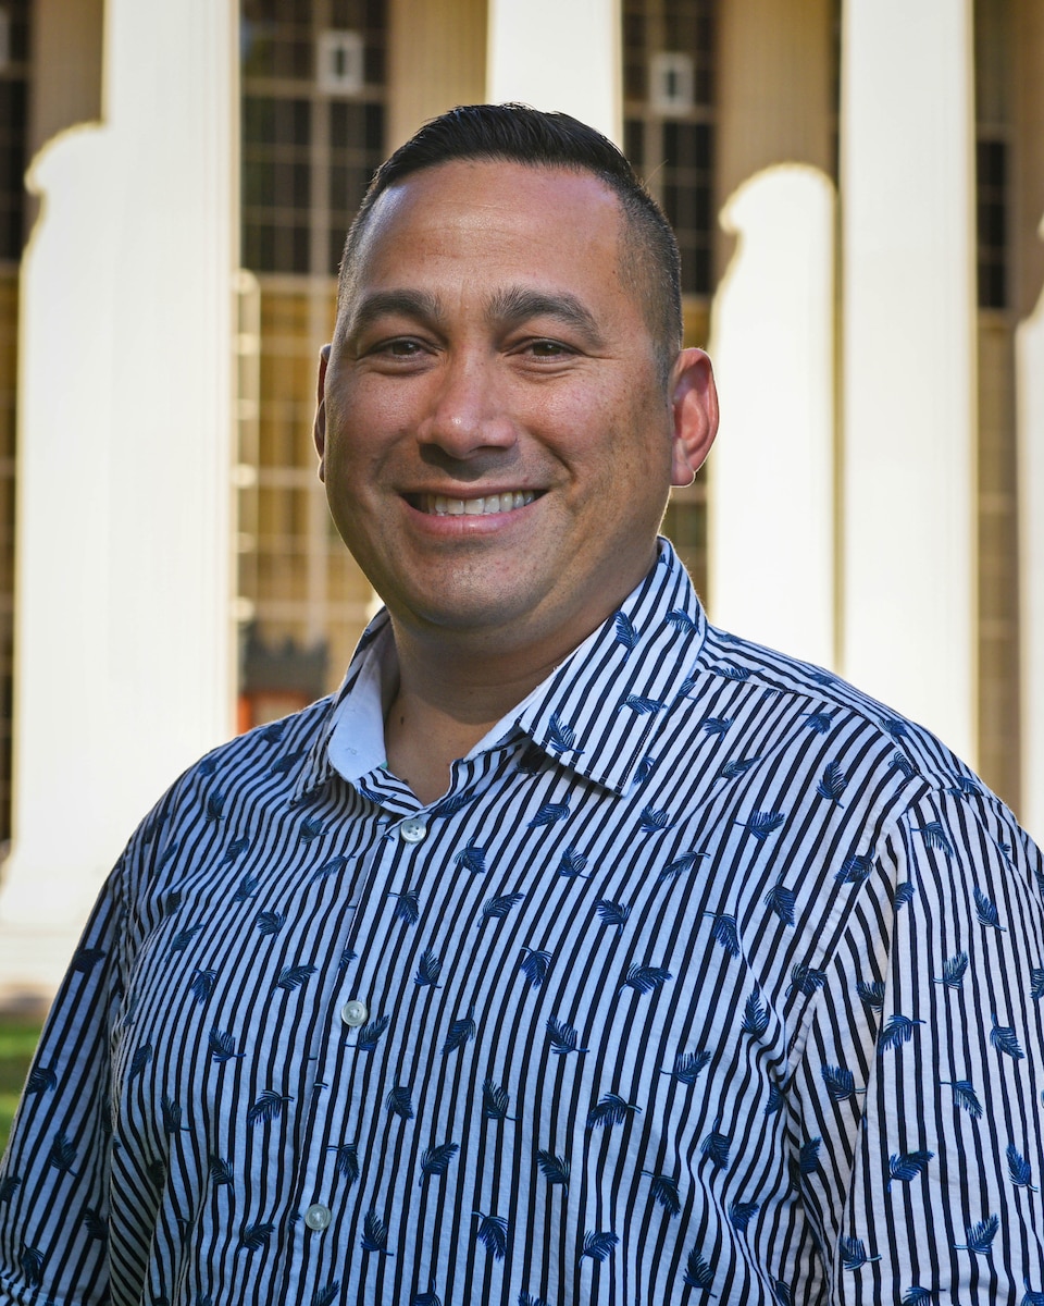
[[[1044,222],[1040,225],[1044,239]],[[1044,294],[1015,333],[1022,628],[1022,810],[1044,842]]]

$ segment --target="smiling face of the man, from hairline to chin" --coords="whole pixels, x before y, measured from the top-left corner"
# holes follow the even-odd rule
[[[377,201],[316,441],[398,628],[561,654],[652,564],[672,409],[622,231],[595,176],[501,162]]]

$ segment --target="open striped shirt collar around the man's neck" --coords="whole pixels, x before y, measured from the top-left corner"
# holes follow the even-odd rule
[[[706,635],[692,581],[666,539],[645,580],[603,624],[471,750],[522,733],[561,765],[624,793],[654,757],[659,721],[688,690]],[[295,798],[337,772],[355,782],[385,761],[384,712],[394,675],[386,611],[364,632]]]

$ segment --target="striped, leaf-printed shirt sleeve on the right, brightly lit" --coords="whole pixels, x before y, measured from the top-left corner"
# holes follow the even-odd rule
[[[971,785],[876,849],[793,1079],[831,1302],[1044,1306],[1043,885]]]

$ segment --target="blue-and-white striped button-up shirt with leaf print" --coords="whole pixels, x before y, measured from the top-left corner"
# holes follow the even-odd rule
[[[967,767],[666,543],[427,806],[389,644],[132,838],[0,1301],[1044,1302],[1044,866]]]

